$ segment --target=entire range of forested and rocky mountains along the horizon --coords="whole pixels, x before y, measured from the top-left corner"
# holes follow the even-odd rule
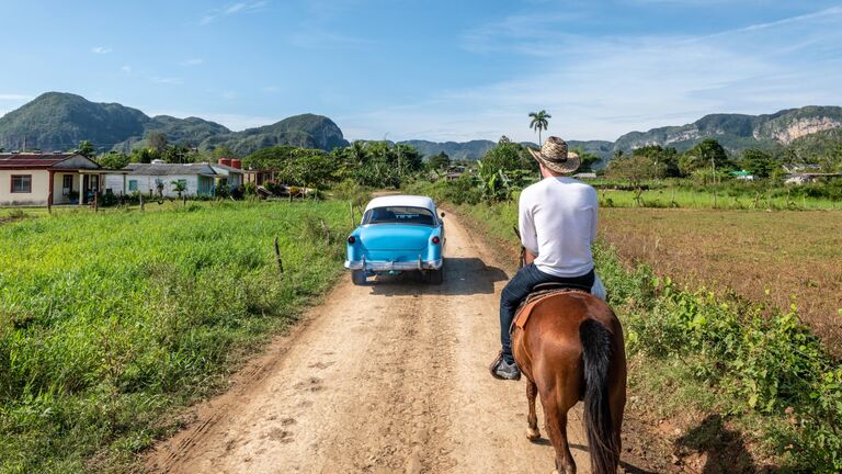
[[[805,106],[766,115],[712,114],[686,125],[630,132],[615,142],[571,139],[568,144],[572,149],[603,158],[606,163],[617,151],[628,153],[646,145],[672,146],[682,151],[706,137],[714,137],[726,149],[739,153],[746,148],[789,145],[799,137],[840,127],[842,108]],[[203,119],[150,117],[118,103],[95,103],[70,93],[47,92],[0,117],[0,148],[66,150],[87,139],[98,149],[130,150],[141,146],[151,132],[164,134],[170,143],[200,149],[226,146],[238,156],[275,145],[325,150],[348,146],[339,126],[322,115],[295,115],[272,125],[232,132]],[[401,143],[417,147],[424,156],[444,151],[452,159],[468,160],[481,158],[496,145],[487,139]]]

